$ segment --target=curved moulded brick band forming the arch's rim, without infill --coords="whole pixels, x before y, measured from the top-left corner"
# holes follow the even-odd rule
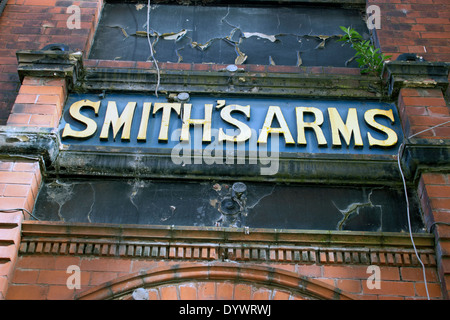
[[[88,289],[76,295],[75,298],[80,300],[118,299],[131,295],[137,288],[157,288],[193,281],[248,283],[252,286],[288,291],[309,299],[354,299],[353,296],[344,294],[338,288],[323,281],[299,276],[294,272],[269,266],[229,262],[185,262],[141,270]]]

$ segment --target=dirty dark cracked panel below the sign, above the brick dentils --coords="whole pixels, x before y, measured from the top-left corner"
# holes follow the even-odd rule
[[[423,232],[417,200],[413,232]],[[40,220],[115,224],[408,232],[402,188],[223,181],[53,179]]]

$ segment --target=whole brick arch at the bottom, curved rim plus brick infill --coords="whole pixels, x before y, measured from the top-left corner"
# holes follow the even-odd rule
[[[231,263],[181,263],[140,271],[79,293],[79,300],[131,299],[145,288],[150,299],[351,300],[351,295],[320,280],[283,269]]]

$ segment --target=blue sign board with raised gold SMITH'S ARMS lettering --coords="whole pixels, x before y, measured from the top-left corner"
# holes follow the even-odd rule
[[[392,104],[239,97],[71,95],[64,144],[283,153],[395,154],[402,134]],[[277,141],[271,139],[277,137]],[[275,149],[275,148],[278,148]]]

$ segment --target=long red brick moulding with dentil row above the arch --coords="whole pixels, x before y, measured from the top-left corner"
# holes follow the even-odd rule
[[[426,266],[434,240],[415,234]],[[25,221],[20,255],[132,259],[417,266],[406,233],[337,232]]]

